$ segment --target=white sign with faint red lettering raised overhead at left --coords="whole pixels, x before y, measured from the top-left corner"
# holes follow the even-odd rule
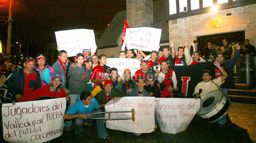
[[[68,57],[76,56],[78,53],[84,54],[88,51],[94,53],[96,51],[93,30],[63,30],[55,32],[55,36],[60,50],[65,50],[68,53]]]

